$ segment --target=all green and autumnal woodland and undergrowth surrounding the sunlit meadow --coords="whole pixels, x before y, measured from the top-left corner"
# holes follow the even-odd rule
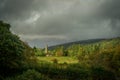
[[[120,38],[58,46],[45,53],[21,41],[10,28],[0,21],[0,80],[120,80]],[[72,57],[78,62],[38,60],[46,55]]]

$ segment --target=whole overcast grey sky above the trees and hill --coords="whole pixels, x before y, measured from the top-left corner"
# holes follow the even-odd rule
[[[120,37],[120,0],[0,0],[0,20],[30,46]]]

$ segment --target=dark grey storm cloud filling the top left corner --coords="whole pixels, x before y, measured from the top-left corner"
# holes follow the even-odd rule
[[[46,5],[45,1],[46,0],[1,0],[0,18],[24,20],[30,16],[32,11],[39,10],[43,5]]]

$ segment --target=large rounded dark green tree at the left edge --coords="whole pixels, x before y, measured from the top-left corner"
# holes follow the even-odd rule
[[[21,65],[24,46],[18,36],[12,34],[10,25],[0,21],[0,74],[8,74]],[[12,72],[11,72],[12,73]]]

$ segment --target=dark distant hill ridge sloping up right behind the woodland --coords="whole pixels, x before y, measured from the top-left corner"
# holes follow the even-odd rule
[[[106,41],[106,40],[115,40],[115,39],[120,39],[120,37],[117,38],[107,38],[107,39],[88,39],[88,40],[80,40],[80,41],[75,41],[75,42],[68,42],[68,43],[64,43],[64,44],[59,44],[59,45],[54,45],[54,46],[49,46],[48,49],[52,50],[58,46],[63,46],[64,48],[69,47],[70,45],[73,44],[82,44],[82,45],[86,45],[86,44],[93,44],[93,43],[97,43],[97,42],[102,42],[102,41]]]

